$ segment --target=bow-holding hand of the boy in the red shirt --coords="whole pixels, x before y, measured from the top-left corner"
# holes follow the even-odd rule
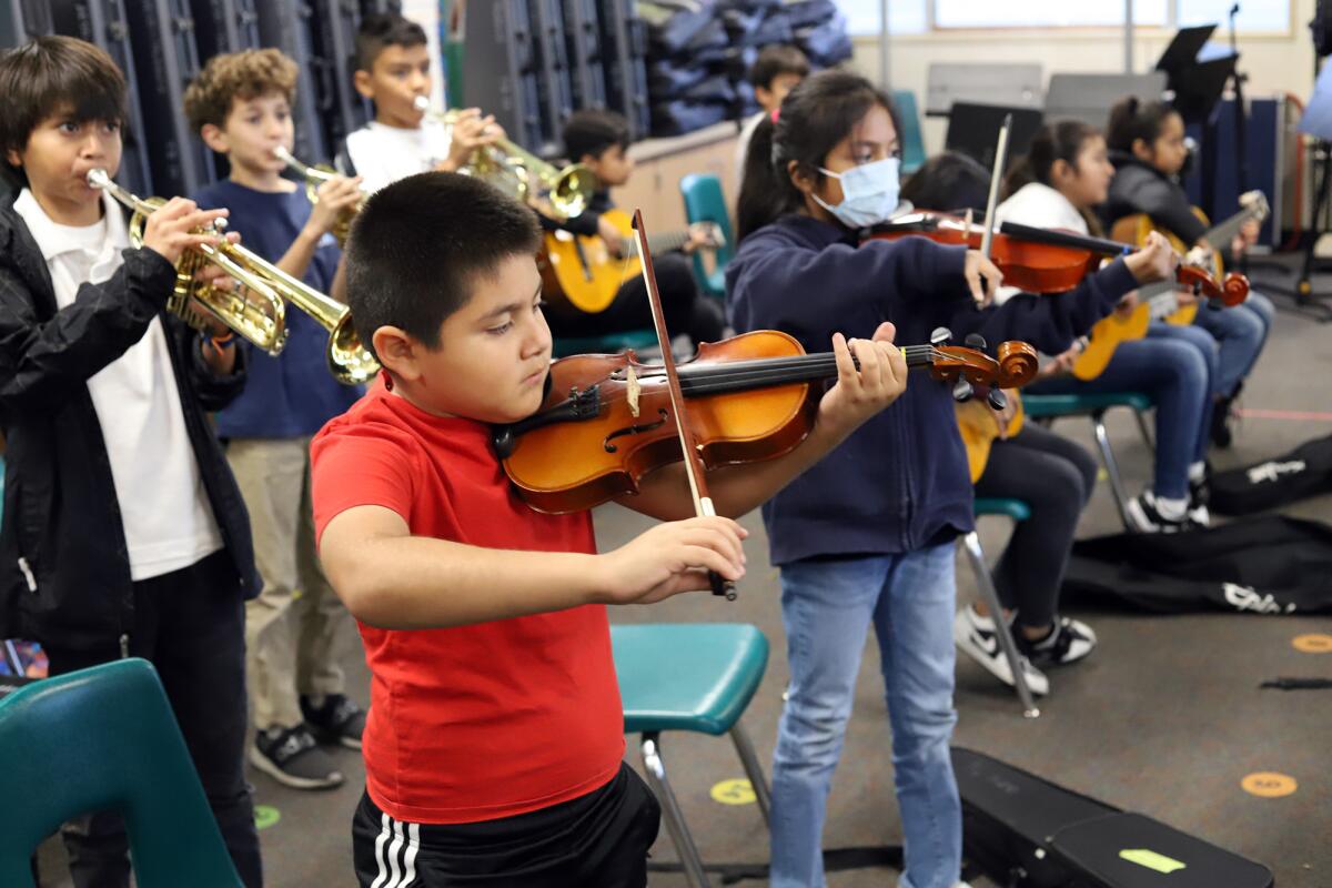
[[[707,571],[729,580],[745,575],[741,541],[749,531],[730,518],[689,518],[657,525],[598,556],[594,600],[651,604],[679,592],[710,590]]]

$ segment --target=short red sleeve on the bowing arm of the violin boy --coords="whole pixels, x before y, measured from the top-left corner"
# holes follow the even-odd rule
[[[310,443],[314,542],[337,515],[384,506],[412,519],[412,453],[406,442],[368,429],[325,429]]]

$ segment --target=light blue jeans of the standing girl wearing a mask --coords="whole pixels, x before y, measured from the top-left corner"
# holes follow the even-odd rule
[[[803,560],[782,567],[791,684],[773,760],[773,888],[819,888],[832,770],[874,623],[892,727],[906,872],[900,888],[951,888],[962,864],[962,803],[948,740],[954,547]]]

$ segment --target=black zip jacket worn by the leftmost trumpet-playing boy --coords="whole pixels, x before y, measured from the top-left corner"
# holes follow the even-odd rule
[[[120,506],[88,379],[139,342],[155,317],[166,341],[185,429],[236,572],[258,594],[249,517],[208,423],[245,383],[213,375],[198,335],[165,312],[174,269],[148,249],[56,310],[51,274],[16,194],[0,200],[0,429],[5,454],[0,525],[0,638],[105,648],[133,624],[133,583]]]

